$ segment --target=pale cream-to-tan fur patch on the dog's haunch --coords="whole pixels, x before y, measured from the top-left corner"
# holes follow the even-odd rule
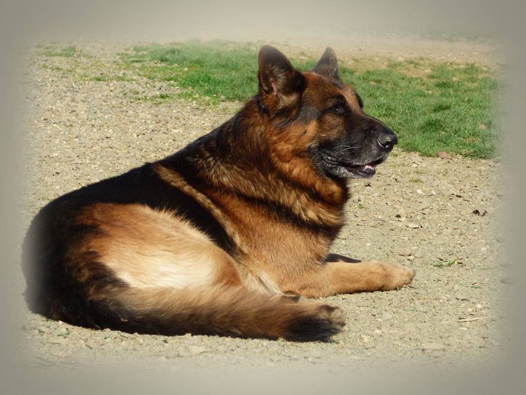
[[[130,205],[125,216],[112,215],[122,208],[105,206],[95,211],[103,235],[93,249],[117,278],[137,288],[214,282],[226,253],[190,223],[146,206]]]

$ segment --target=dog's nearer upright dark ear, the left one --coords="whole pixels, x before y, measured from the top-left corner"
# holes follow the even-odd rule
[[[287,57],[270,45],[259,50],[259,91],[265,105],[277,109],[291,102],[303,87],[305,78]]]

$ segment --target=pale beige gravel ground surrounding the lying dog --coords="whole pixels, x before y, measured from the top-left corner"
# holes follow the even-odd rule
[[[451,51],[452,58],[466,57],[454,52],[458,50],[454,43],[447,45],[436,44],[436,53],[431,45],[426,56],[448,57],[446,51]],[[475,55],[468,60],[490,63],[486,55],[491,51],[480,50],[480,45],[472,44],[469,53]],[[398,53],[398,46],[386,43],[383,52],[381,47],[363,53],[411,56],[418,52],[409,44]],[[178,100],[161,104],[130,100],[131,91],[151,95],[169,87],[141,78],[133,82],[81,78],[86,72],[115,71],[116,54],[123,47],[83,44],[81,49],[83,56],[49,57],[42,48],[33,48],[28,57],[23,229],[49,200],[160,159],[224,122],[239,107],[237,103],[211,108]],[[346,56],[345,51],[340,54]],[[372,180],[352,181],[347,225],[332,252],[402,263],[416,269],[417,275],[399,291],[326,298],[348,316],[345,330],[331,342],[96,331],[44,319],[27,311],[20,300],[26,364],[75,368],[126,360],[150,368],[242,366],[255,371],[312,364],[334,371],[490,364],[502,358],[509,342],[503,330],[503,294],[510,279],[499,236],[504,203],[500,173],[499,161],[422,157],[395,149]],[[23,289],[22,274],[19,284]]]

